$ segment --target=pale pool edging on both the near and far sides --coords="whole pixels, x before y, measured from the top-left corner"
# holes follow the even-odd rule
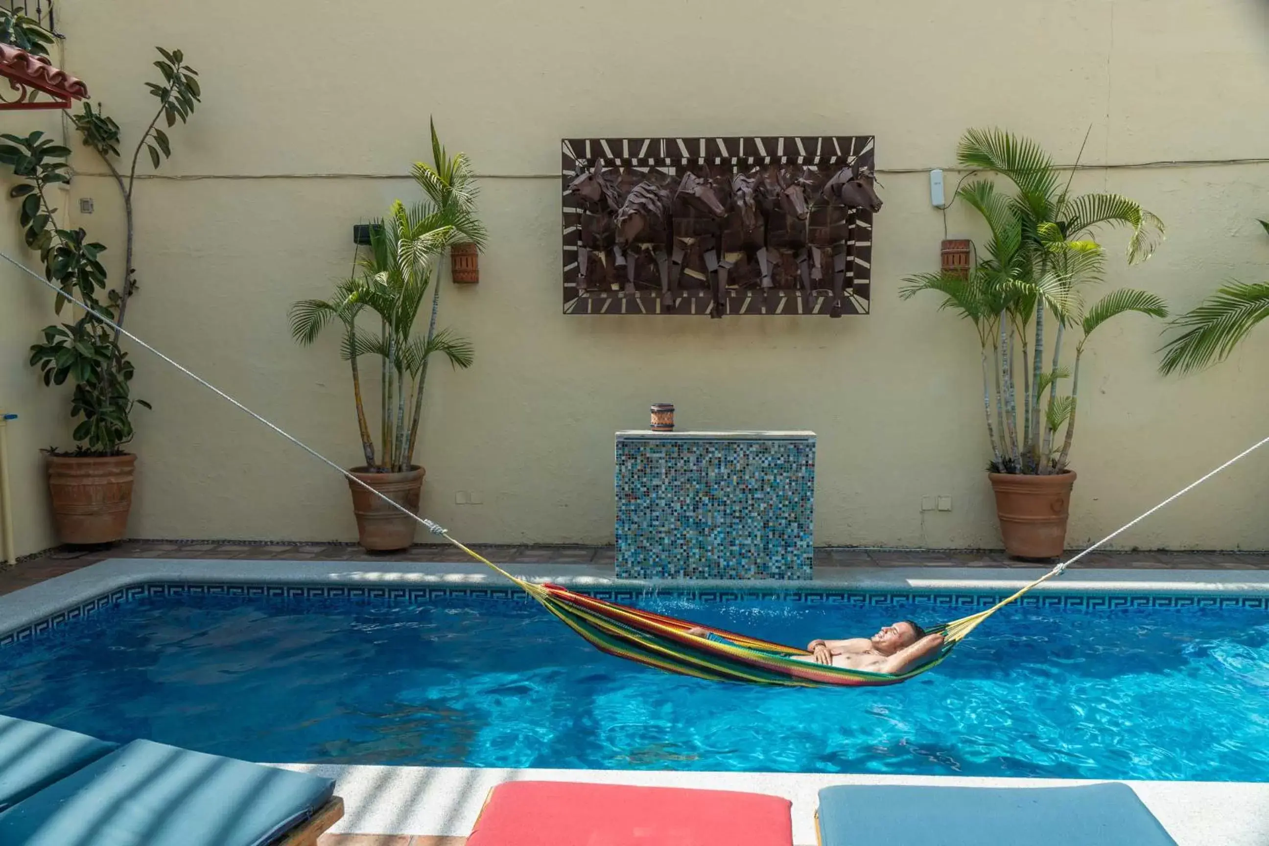
[[[887,567],[849,568],[815,581],[628,581],[610,567],[510,564],[532,581],[572,587],[717,587],[730,590],[863,590],[902,592],[1004,592],[1044,568]],[[145,583],[503,586],[481,564],[345,561],[250,561],[112,558],[0,596],[0,637],[48,619],[115,590]],[[1266,571],[1076,569],[1039,589],[1056,594],[1269,595]],[[496,784],[541,779],[662,786],[697,786],[782,795],[793,802],[797,846],[815,843],[816,793],[831,784],[919,784],[1046,786],[1088,784],[1053,779],[957,776],[821,775],[774,772],[693,772],[648,770],[515,770],[278,764],[334,778],[346,803],[339,832],[367,835],[457,835],[471,832],[481,803]],[[1222,781],[1129,781],[1180,846],[1265,846],[1269,843],[1269,784]]]

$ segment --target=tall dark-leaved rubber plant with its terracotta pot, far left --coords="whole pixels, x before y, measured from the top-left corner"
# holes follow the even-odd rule
[[[171,155],[170,142],[157,120],[168,115],[183,120],[194,110],[199,99],[197,71],[184,65],[180,51],[159,49],[164,57],[155,62],[164,75],[162,84],[150,84],[160,107],[137,142],[132,166],[124,178],[115,166],[119,157],[119,127],[85,103],[84,112],[71,117],[85,146],[93,147],[105,161],[124,200],[127,252],[124,282],[110,288],[100,256],[105,246],[89,241],[82,228],[57,226],[58,209],[49,193],[70,181],[66,159],[70,148],[46,138],[42,132],[27,137],[0,136],[0,162],[6,165],[18,184],[9,197],[22,203],[20,225],[27,246],[39,252],[46,278],[61,293],[53,311],[61,315],[70,298],[79,301],[114,325],[122,325],[129,297],[136,292],[132,269],[133,219],[132,190],[142,148],[148,148],[151,164],[160,165]],[[105,298],[103,302],[99,297]],[[77,311],[71,306],[71,316]],[[82,313],[72,322],[47,326],[39,342],[30,348],[30,364],[38,367],[44,384],[74,384],[71,417],[79,422],[72,438],[75,449],[48,450],[48,486],[53,519],[63,543],[96,544],[119,540],[127,531],[132,506],[132,485],[136,455],[126,452],[132,441],[132,411],[137,405],[131,382],[135,374],[127,350],[119,345],[119,331],[91,313]]]

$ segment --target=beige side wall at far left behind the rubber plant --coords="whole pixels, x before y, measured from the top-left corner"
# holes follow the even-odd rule
[[[61,122],[49,113],[5,113],[0,132],[25,136],[41,129],[61,138]],[[8,142],[6,142],[8,143]],[[18,226],[19,209],[9,199],[15,183],[0,179],[0,251],[41,270],[39,255],[29,252]],[[63,212],[67,192],[49,194]],[[25,556],[56,543],[48,514],[48,485],[41,449],[66,445],[70,394],[66,388],[46,388],[39,372],[27,367],[38,331],[56,320],[53,294],[6,261],[0,261],[0,411],[18,415],[5,433],[9,441],[9,481],[13,496],[14,552]],[[3,496],[0,491],[0,496]],[[0,553],[3,557],[3,553]]]

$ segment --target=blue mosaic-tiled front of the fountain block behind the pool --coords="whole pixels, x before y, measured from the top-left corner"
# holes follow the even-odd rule
[[[618,578],[811,578],[815,440],[617,440]]]

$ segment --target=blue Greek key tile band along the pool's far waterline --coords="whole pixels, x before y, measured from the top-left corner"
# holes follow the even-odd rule
[[[613,602],[633,602],[650,591],[634,589],[585,590],[596,599]],[[788,601],[805,605],[855,605],[878,606],[895,604],[928,605],[957,610],[991,608],[1003,594],[958,592],[874,592],[848,590],[772,590],[772,589],[665,589],[656,595],[697,602],[737,602],[745,600]],[[142,596],[228,596],[242,599],[345,599],[353,601],[387,601],[401,604],[425,602],[438,599],[481,599],[529,602],[532,599],[516,587],[390,587],[362,585],[245,585],[245,583],[148,583],[121,587],[96,596],[76,606],[65,609],[30,625],[0,635],[0,647],[30,641],[86,619],[102,609],[131,602]],[[1269,596],[1222,595],[1137,595],[1137,594],[1032,594],[1018,600],[1023,608],[1077,609],[1086,611],[1113,611],[1123,609],[1253,609],[1269,610]]]

